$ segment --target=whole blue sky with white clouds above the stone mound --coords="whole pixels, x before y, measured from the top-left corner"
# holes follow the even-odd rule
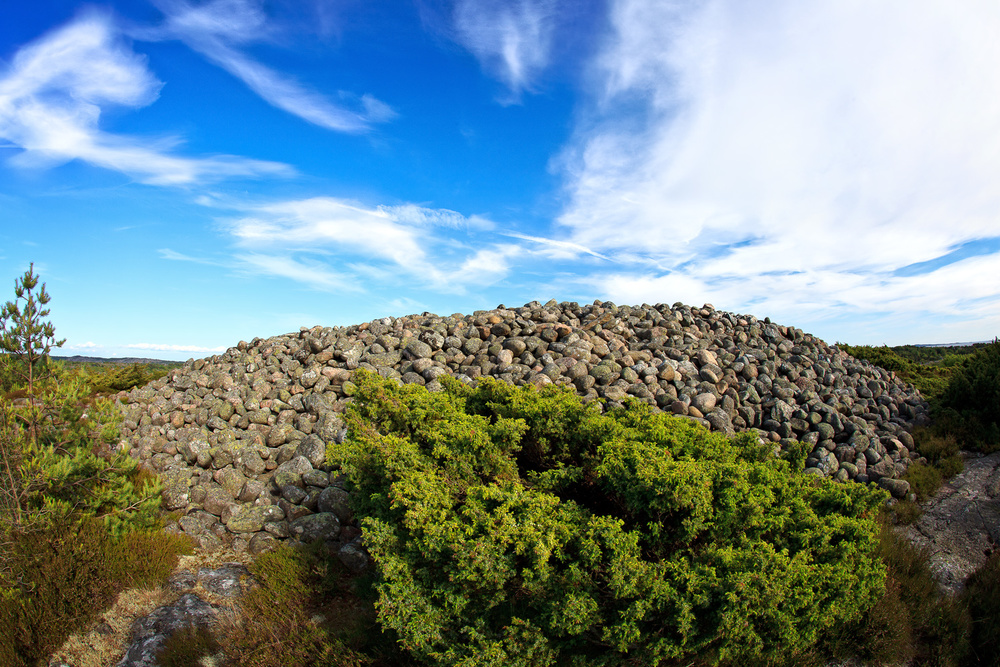
[[[1000,334],[1000,5],[0,5],[0,278],[64,354],[533,299]],[[2,284],[2,283],[0,283]]]

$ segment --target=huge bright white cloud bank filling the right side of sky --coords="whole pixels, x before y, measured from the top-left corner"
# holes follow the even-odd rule
[[[558,162],[565,240],[636,263],[594,276],[605,294],[791,320],[1000,301],[996,254],[894,275],[1000,236],[1000,6],[619,0],[611,18]]]

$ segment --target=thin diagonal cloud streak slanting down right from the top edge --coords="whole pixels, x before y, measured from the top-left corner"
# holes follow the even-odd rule
[[[136,29],[143,39],[180,39],[243,81],[268,104],[314,125],[338,132],[363,132],[391,120],[396,112],[375,97],[337,91],[338,101],[303,86],[248,56],[240,47],[265,40],[270,19],[259,0],[158,0],[166,16],[161,28]]]

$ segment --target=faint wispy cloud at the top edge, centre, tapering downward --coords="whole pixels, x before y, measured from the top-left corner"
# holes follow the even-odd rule
[[[458,0],[456,37],[516,99],[548,65],[557,5],[555,0]]]

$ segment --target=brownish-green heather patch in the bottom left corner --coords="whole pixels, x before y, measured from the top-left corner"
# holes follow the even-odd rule
[[[159,584],[190,551],[186,538],[113,535],[95,519],[60,517],[16,532],[14,579],[0,586],[0,664],[31,665],[130,586]]]

